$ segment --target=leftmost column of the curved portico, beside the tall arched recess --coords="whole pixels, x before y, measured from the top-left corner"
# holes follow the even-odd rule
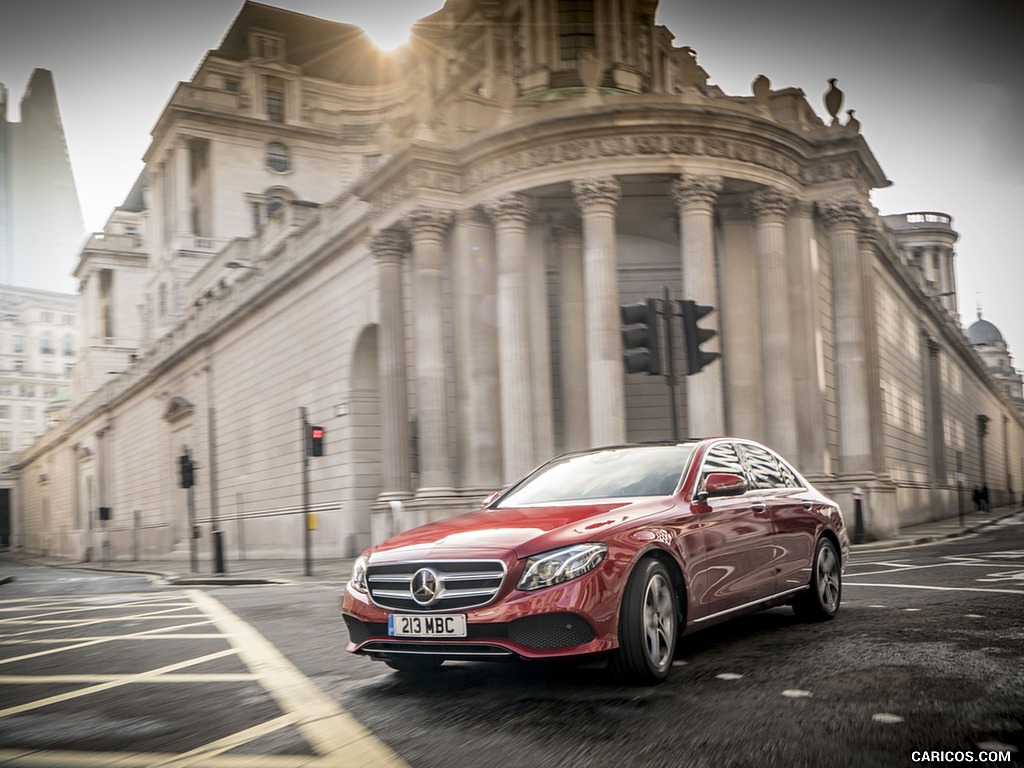
[[[383,229],[374,233],[370,250],[377,260],[380,284],[378,369],[381,387],[381,450],[384,497],[410,490],[409,400],[406,374],[406,315],[401,301],[401,260],[408,252],[401,233]]]

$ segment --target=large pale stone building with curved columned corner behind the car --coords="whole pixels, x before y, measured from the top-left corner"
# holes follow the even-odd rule
[[[216,527],[229,556],[298,554],[304,419],[335,555],[557,452],[670,437],[618,312],[665,288],[715,307],[722,353],[686,377],[684,433],[762,439],[851,510],[860,488],[878,535],[955,514],[986,460],[1024,486],[1024,421],[956,317],[949,218],[879,215],[889,181],[835,83],[825,119],[764,76],[726,94],[656,6],[449,0],[386,55],[246,2],[157,121],[125,213],[141,246],[83,252],[83,316],[126,366],[83,360],[24,455],[20,545],[183,554],[188,454],[201,547]]]

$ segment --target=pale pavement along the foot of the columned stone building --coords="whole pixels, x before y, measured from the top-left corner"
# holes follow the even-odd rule
[[[992,525],[1008,517],[1024,512],[1021,507],[1000,507],[989,512],[965,511],[964,525],[956,517],[924,522],[910,525],[898,536],[884,541],[852,546],[854,553],[872,552],[901,547],[912,547],[943,539],[953,539],[973,534]],[[847,520],[852,537],[852,521]],[[79,568],[84,570],[100,570],[123,573],[143,573],[159,578],[168,584],[178,586],[248,586],[261,584],[322,584],[341,589],[352,572],[354,558],[324,558],[313,559],[312,574],[306,575],[303,559],[256,559],[231,560],[227,553],[225,573],[214,573],[213,563],[208,553],[200,556],[197,572],[191,572],[189,562],[184,560],[117,560],[102,562],[72,562],[57,557],[41,557],[23,555],[14,552],[0,553],[0,563],[4,560],[14,560],[27,564],[51,565],[57,567]],[[0,573],[0,584],[10,581]]]

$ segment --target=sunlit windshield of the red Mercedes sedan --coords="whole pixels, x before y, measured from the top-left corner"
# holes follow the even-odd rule
[[[670,496],[679,486],[693,445],[637,445],[562,457],[514,485],[497,506]]]

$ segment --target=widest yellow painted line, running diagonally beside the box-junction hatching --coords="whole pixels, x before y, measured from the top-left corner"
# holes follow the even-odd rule
[[[406,763],[338,703],[324,694],[281,651],[219,601],[199,590],[186,594],[238,649],[239,657],[296,724],[318,755],[334,758],[322,765],[344,768],[397,768]],[[337,762],[335,762],[337,761]]]

